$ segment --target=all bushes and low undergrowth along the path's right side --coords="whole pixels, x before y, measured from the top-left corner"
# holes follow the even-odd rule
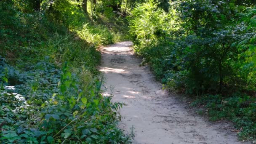
[[[211,120],[228,118],[242,139],[256,139],[256,6],[253,0],[140,3],[129,16],[143,64],[165,88],[206,104]],[[202,100],[203,99],[203,100]]]

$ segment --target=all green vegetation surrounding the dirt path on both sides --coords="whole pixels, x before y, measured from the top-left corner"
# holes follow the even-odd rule
[[[1,0],[0,143],[131,143],[101,45],[132,39],[163,88],[256,141],[255,0]]]

